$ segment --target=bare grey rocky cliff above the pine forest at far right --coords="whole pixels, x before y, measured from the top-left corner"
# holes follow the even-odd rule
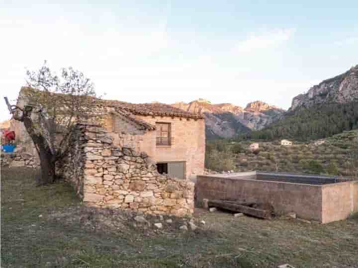
[[[358,100],[358,65],[336,77],[311,87],[293,98],[290,111],[322,103],[348,103]]]

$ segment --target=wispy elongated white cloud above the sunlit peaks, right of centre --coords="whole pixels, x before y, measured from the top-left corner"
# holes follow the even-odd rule
[[[274,29],[260,34],[251,34],[240,42],[235,50],[239,53],[248,53],[281,45],[294,34],[294,29]]]

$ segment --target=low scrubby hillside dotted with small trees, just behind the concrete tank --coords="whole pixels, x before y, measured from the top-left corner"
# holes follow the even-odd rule
[[[284,171],[358,176],[358,131],[344,132],[309,143],[261,142],[259,150],[248,148],[253,141],[209,141],[206,167],[216,171]]]

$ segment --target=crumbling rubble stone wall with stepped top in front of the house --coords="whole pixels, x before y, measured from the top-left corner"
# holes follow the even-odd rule
[[[193,212],[194,184],[157,172],[145,152],[115,146],[106,129],[79,125],[60,173],[92,206],[148,214]]]

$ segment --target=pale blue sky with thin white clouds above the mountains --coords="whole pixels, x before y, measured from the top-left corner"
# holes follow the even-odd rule
[[[105,99],[287,109],[358,64],[357,14],[357,0],[0,0],[0,92],[15,100],[46,60]]]

